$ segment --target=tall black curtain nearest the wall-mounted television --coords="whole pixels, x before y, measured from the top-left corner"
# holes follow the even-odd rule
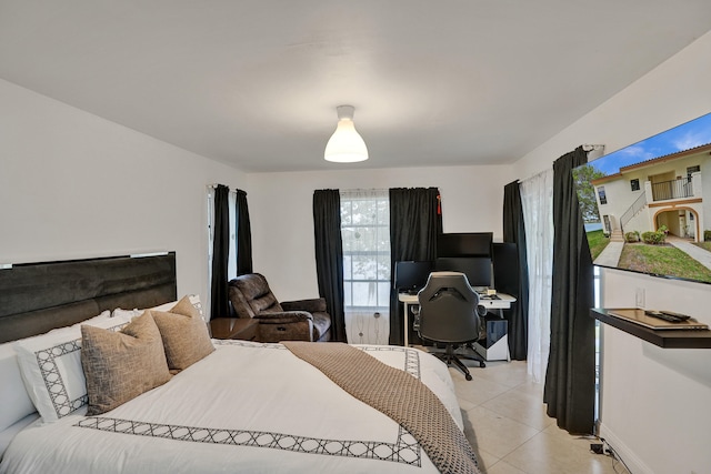
[[[588,162],[582,147],[553,163],[551,346],[543,402],[558,426],[593,433],[595,331],[593,269],[572,169]]]

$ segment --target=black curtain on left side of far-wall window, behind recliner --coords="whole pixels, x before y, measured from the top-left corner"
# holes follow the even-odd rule
[[[319,295],[326,299],[331,315],[331,340],[346,342],[341,195],[338,190],[313,192],[313,238]]]

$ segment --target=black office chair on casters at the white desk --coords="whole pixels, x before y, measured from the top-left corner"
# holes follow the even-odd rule
[[[470,286],[467,276],[459,272],[432,272],[424,288],[418,293],[420,303],[419,329],[422,339],[445,344],[445,352],[435,354],[447,365],[454,364],[471,380],[469,369],[460,360],[471,359],[485,367],[484,361],[474,355],[458,355],[454,350],[479,340],[480,315],[487,310],[479,305],[479,295]]]

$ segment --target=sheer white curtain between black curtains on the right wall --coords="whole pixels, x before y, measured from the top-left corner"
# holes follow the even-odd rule
[[[542,383],[551,339],[553,170],[522,181],[520,189],[529,264],[528,372]]]

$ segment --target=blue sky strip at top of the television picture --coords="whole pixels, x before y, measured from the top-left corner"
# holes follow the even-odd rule
[[[661,132],[590,162],[605,174],[621,167],[711,143],[711,113]]]

